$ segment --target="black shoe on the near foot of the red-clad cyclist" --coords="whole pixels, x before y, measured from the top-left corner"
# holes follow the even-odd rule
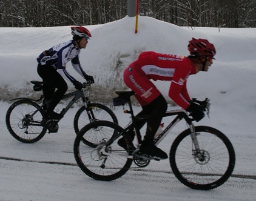
[[[150,141],[149,140],[144,140],[141,143],[140,151],[144,154],[149,155],[149,156],[159,157],[160,159],[167,159],[168,158],[167,154],[163,150],[161,150],[160,148],[155,146],[153,144],[153,141],[151,141],[151,140]]]

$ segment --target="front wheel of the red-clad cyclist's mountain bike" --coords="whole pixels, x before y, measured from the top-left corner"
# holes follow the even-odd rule
[[[226,182],[235,166],[231,141],[221,131],[206,126],[195,127],[204,160],[195,156],[187,129],[177,136],[170,148],[169,162],[173,174],[189,188],[209,190]]]

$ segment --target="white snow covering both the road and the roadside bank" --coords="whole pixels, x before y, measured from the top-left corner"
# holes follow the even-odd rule
[[[137,34],[135,18],[129,17],[86,27],[92,38],[81,51],[81,65],[95,77],[94,93],[104,94],[107,89],[111,97],[113,91],[125,89],[123,70],[141,51],[186,56],[187,42],[192,37],[214,43],[214,64],[208,72],[190,76],[188,90],[191,97],[211,99],[211,118],[205,117],[196,125],[215,127],[229,137],[237,157],[233,175],[217,189],[197,191],[178,182],[169,160],[161,160],[140,170],[129,170],[112,182],[93,180],[76,166],[73,157],[73,117],[78,106],[59,122],[58,133],[45,134],[33,144],[18,142],[5,126],[11,104],[6,100],[39,96],[38,92],[32,93],[30,84],[40,80],[36,58],[52,45],[71,39],[70,27],[0,28],[0,200],[256,200],[256,28],[192,30],[147,17],[138,19]],[[67,69],[83,82],[71,64]],[[155,84],[168,99],[170,82]],[[110,102],[106,105],[112,107]],[[58,105],[57,109],[62,107]],[[120,125],[125,126],[129,117],[123,114],[123,107],[113,111]],[[179,123],[158,146],[169,153],[173,140],[185,129],[184,122]]]

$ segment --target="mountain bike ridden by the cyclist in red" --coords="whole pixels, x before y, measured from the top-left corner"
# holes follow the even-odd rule
[[[146,122],[149,116],[135,116],[130,97],[133,91],[116,91],[117,104],[129,105],[130,123],[122,128],[113,122],[99,120],[83,127],[76,135],[73,151],[76,162],[81,170],[96,180],[110,181],[123,176],[135,163],[137,168],[149,165],[150,160],[161,160],[158,157],[147,156],[140,152],[142,142],[138,122]],[[200,105],[209,116],[209,99],[193,102]],[[187,129],[178,134],[169,152],[169,163],[173,174],[184,185],[200,190],[209,190],[222,185],[231,176],[235,166],[235,151],[231,141],[221,131],[207,126],[195,126],[186,110],[166,111],[163,118],[172,116],[170,124],[155,137],[158,145],[164,137],[184,119]],[[174,119],[173,119],[174,118]],[[134,128],[136,143],[133,144],[127,131]],[[85,145],[83,138],[87,134],[101,136],[98,145]],[[118,145],[118,140],[125,140],[124,148]]]

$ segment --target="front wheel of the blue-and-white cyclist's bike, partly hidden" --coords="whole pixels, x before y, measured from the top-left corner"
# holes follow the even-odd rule
[[[92,116],[93,114],[93,117],[95,117],[95,119],[89,119],[89,114],[87,113],[88,109],[90,110],[90,116]],[[90,103],[87,105],[87,107],[83,106],[76,112],[74,118],[75,133],[77,134],[85,125],[96,120],[108,120],[110,122],[118,124],[118,119],[115,113],[110,110],[110,108],[103,104]],[[99,137],[101,136],[87,135],[83,139],[83,142],[90,147],[96,147],[98,145],[97,142]]]

